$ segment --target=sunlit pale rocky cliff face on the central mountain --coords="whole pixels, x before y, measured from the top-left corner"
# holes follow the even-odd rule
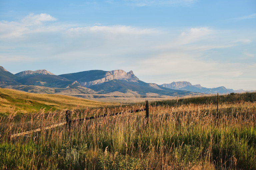
[[[96,84],[101,84],[104,82],[108,82],[111,80],[126,80],[126,81],[132,81],[132,82],[137,82],[139,79],[133,74],[133,71],[130,71],[126,73],[124,70],[113,70],[113,71],[108,71],[105,74],[105,77],[94,80],[94,81],[88,81],[88,82],[81,82],[78,81],[82,86],[84,87],[90,87],[92,85]]]

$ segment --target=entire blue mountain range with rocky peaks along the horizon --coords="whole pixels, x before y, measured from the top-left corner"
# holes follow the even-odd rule
[[[12,74],[0,66],[0,87],[31,93],[65,94],[82,98],[168,98],[198,93],[236,92],[225,87],[205,88],[189,82],[157,85],[139,80],[133,71],[90,70],[54,75],[47,70],[22,71]],[[241,92],[241,91],[239,91]]]

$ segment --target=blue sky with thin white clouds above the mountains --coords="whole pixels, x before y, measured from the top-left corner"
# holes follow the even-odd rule
[[[256,90],[256,1],[0,0],[0,66]]]

